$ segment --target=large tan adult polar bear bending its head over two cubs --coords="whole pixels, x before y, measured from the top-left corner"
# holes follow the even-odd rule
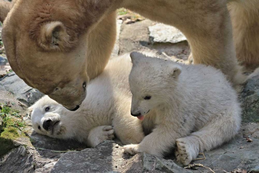
[[[5,19],[2,40],[12,69],[29,86],[69,110],[79,107],[87,82],[108,62],[116,36],[115,10],[120,7],[177,27],[188,38],[194,63],[221,69],[234,85],[244,80],[234,50],[227,0],[0,2],[0,19]],[[236,13],[245,5],[251,16],[258,16],[257,0],[231,3]],[[248,25],[248,19],[241,25]]]

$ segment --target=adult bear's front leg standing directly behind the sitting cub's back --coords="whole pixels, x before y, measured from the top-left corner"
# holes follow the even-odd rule
[[[227,5],[220,4],[220,1],[215,1],[211,7],[209,5],[196,12],[190,11],[189,17],[193,22],[180,29],[188,39],[194,64],[221,69],[233,86],[238,86],[245,81],[245,76],[237,62]]]

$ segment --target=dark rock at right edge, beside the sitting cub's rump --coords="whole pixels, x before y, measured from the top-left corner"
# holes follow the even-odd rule
[[[243,122],[259,122],[259,75],[247,80],[239,98]]]

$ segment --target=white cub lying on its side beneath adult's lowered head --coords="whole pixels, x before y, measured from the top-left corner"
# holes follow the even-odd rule
[[[114,132],[123,145],[139,143],[144,132],[141,121],[130,115],[131,67],[129,55],[110,60],[104,72],[87,86],[86,99],[76,111],[42,97],[29,108],[34,130],[53,138],[74,138],[90,147],[111,140]]]

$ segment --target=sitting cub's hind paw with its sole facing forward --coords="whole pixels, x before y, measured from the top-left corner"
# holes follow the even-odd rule
[[[188,145],[188,141],[184,138],[176,140],[176,151],[175,156],[178,162],[184,166],[188,165],[192,161],[191,147]]]

